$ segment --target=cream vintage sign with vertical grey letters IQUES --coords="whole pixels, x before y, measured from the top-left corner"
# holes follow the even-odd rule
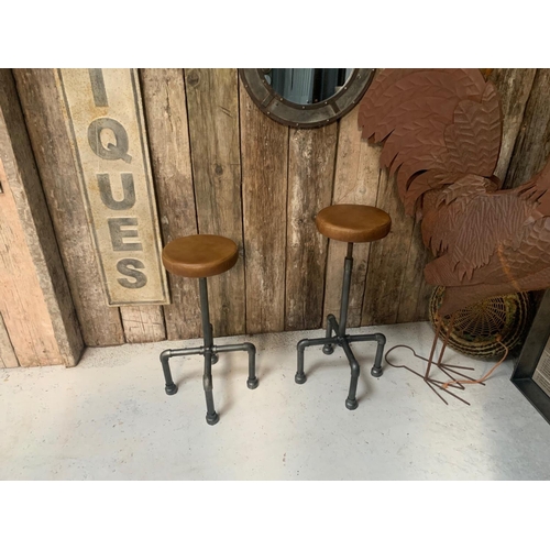
[[[138,73],[56,77],[108,305],[167,304]]]

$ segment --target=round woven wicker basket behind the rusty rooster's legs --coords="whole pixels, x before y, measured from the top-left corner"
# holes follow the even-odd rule
[[[436,312],[443,298],[444,287],[435,288],[429,305],[430,322],[436,329]],[[501,342],[513,350],[524,340],[532,305],[529,293],[508,294],[469,306],[457,311],[448,345],[475,358],[495,358],[503,354]],[[450,316],[443,318],[440,338],[449,327]]]

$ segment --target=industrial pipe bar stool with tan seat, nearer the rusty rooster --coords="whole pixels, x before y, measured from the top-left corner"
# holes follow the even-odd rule
[[[344,261],[342,299],[340,302],[340,320],[337,321],[332,314],[329,315],[327,317],[326,338],[305,339],[298,342],[298,371],[295,381],[297,384],[304,384],[307,380],[304,373],[304,351],[306,348],[322,344],[322,352],[326,355],[330,355],[334,351],[334,345],[340,345],[351,367],[350,393],[348,399],[345,399],[345,406],[350,410],[353,410],[358,408],[355,393],[358,389],[360,366],[351,351],[350,343],[377,342],[376,358],[374,360],[374,366],[371,370],[371,374],[376,377],[382,376],[382,355],[384,353],[384,344],[386,343],[386,338],[381,333],[356,336],[345,333],[351,271],[353,267],[353,243],[372,242],[384,239],[389,232],[392,220],[389,216],[380,208],[364,205],[333,205],[323,208],[317,215],[315,221],[321,234],[329,239],[348,243],[348,255]],[[332,333],[334,333],[334,336],[332,336]]]

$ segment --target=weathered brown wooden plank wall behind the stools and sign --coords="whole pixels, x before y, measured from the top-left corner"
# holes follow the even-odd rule
[[[518,185],[550,152],[550,70],[485,74],[503,99],[496,173]],[[106,306],[53,73],[14,75],[86,343],[199,336],[196,280],[169,276],[173,304],[163,308]],[[338,315],[345,244],[329,243],[314,222],[337,202],[375,205],[393,219],[386,239],[355,246],[350,324],[427,319],[429,253],[378,168],[380,147],[361,140],[356,109],[326,128],[289,130],[260,112],[237,69],[140,77],[164,242],[199,232],[239,245],[235,267],[209,279],[217,336],[314,329]]]

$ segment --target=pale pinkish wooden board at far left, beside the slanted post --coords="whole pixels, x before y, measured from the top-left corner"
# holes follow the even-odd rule
[[[0,314],[21,366],[62,363],[50,312],[0,160]]]

